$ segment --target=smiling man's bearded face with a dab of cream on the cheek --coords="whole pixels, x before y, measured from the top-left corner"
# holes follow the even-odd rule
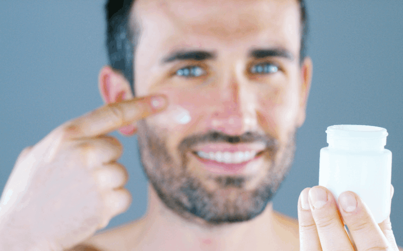
[[[133,11],[142,27],[136,95],[163,93],[170,104],[138,123],[157,194],[205,223],[255,217],[286,177],[305,118],[298,3],[140,0]],[[166,60],[178,52],[187,55]],[[190,121],[176,121],[177,108]],[[238,155],[250,151],[249,161]],[[218,152],[234,159],[220,162]]]

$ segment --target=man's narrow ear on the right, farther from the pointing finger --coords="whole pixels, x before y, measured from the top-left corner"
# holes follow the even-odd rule
[[[301,89],[300,89],[300,105],[298,111],[297,125],[301,127],[306,117],[306,103],[308,101],[309,90],[312,81],[312,60],[305,57],[301,66]]]

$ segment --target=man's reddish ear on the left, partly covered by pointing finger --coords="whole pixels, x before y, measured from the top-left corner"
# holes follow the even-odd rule
[[[130,84],[124,76],[110,66],[102,67],[98,77],[98,88],[105,103],[121,102],[133,98]],[[118,130],[123,136],[131,136],[136,131],[135,124],[129,124]]]

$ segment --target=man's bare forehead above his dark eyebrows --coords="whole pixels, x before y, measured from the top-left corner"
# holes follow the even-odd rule
[[[132,14],[147,33],[146,43],[157,43],[163,50],[199,43],[201,47],[254,43],[299,50],[297,0],[138,0]]]

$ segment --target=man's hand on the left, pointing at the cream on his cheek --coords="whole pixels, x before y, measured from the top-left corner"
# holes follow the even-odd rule
[[[162,97],[165,104],[154,108],[158,101],[152,97]],[[116,162],[122,145],[106,134],[166,106],[164,95],[107,104],[24,149],[0,200],[0,234],[9,236],[0,250],[26,248],[23,242],[32,242],[30,250],[69,249],[126,211],[128,175]]]

